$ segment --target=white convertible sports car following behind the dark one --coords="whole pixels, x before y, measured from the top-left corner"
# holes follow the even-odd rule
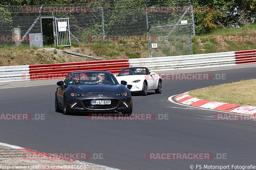
[[[147,95],[148,90],[162,93],[161,77],[154,72],[149,72],[147,67],[124,68],[119,74],[116,74],[116,79],[119,83],[121,80],[127,81],[126,86],[131,92],[140,91],[143,96]]]

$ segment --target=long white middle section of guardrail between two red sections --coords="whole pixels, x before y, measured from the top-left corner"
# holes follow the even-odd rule
[[[130,67],[148,67],[152,71],[236,65],[235,52],[130,59]]]

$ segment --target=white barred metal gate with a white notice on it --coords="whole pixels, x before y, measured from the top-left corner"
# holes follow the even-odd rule
[[[53,19],[53,32],[55,46],[71,46],[69,18]]]

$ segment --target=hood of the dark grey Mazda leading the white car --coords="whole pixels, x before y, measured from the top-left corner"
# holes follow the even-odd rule
[[[80,94],[86,94],[86,93],[114,93],[119,94],[124,92],[124,85],[102,85],[102,84],[90,84],[90,85],[84,85],[84,84],[72,84],[70,85],[74,92],[80,93]]]

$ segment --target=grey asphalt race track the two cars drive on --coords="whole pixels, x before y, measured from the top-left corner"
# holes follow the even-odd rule
[[[149,91],[147,96],[133,94],[133,113],[154,114],[156,118],[165,114],[166,120],[89,120],[84,115],[65,116],[54,111],[56,84],[0,89],[0,113],[44,116],[42,120],[0,120],[0,142],[46,153],[103,154],[103,159],[84,161],[123,170],[189,170],[191,165],[194,169],[196,165],[230,165],[229,169],[231,165],[256,166],[255,121],[214,120],[212,115],[217,111],[168,101],[168,97],[192,89],[255,79],[256,67],[252,66],[219,67],[224,70],[202,72],[213,77],[225,75],[223,80],[163,80],[162,94],[155,91]],[[217,68],[209,68],[213,69]],[[149,160],[147,153],[211,153],[214,158]],[[220,155],[225,159],[219,159]]]

